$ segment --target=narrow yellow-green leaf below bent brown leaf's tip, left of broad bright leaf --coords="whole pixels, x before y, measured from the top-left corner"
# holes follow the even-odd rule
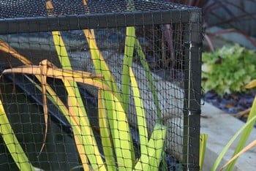
[[[99,130],[102,139],[102,148],[105,154],[105,162],[108,170],[116,170],[116,163],[113,154],[113,145],[111,142],[110,127],[108,125],[108,115],[103,99],[103,90],[99,89],[98,94],[98,113],[99,113]]]

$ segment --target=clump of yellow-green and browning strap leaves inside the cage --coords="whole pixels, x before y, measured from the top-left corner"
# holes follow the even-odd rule
[[[83,3],[86,4],[86,1],[83,1]],[[48,9],[48,15],[51,16],[50,12],[54,10],[51,1],[46,1],[46,8]],[[25,56],[18,54],[6,43],[3,42],[0,45],[1,51],[18,54],[12,56],[18,58],[25,64],[16,68],[5,69],[3,74],[23,73],[26,75],[35,75],[39,81],[38,84],[31,80],[42,91],[43,98],[45,137],[41,151],[45,145],[46,134],[48,132],[48,100],[50,100],[59,108],[72,126],[75,145],[82,162],[81,167],[84,170],[158,170],[159,164],[162,161],[167,127],[156,123],[151,136],[148,135],[143,101],[140,97],[137,80],[132,71],[132,58],[135,47],[138,48],[136,51],[140,59],[143,60],[145,58],[138,39],[135,36],[135,28],[127,27],[122,72],[122,85],[125,86],[122,86],[121,90],[118,89],[116,81],[108,68],[108,64],[97,47],[94,30],[84,29],[83,32],[91,50],[91,60],[94,62],[96,74],[72,70],[67,49],[61,37],[61,31],[52,31],[52,35],[62,68],[57,68],[48,60],[41,61],[38,66],[33,65]],[[145,62],[143,63],[143,67],[148,72],[148,82],[151,85],[151,91],[155,94],[154,103],[158,104],[151,73]],[[62,80],[68,94],[67,105],[56,96],[56,92],[48,85],[47,77]],[[99,152],[99,144],[95,140],[94,132],[86,113],[86,107],[81,100],[77,83],[84,83],[98,88],[99,132],[102,138],[103,153]],[[132,90],[130,90],[130,87],[132,87]],[[135,101],[140,135],[141,156],[137,160],[135,159],[132,135],[127,119],[127,102],[130,95],[133,96]],[[11,129],[10,127],[9,131]],[[11,145],[14,142],[15,140],[8,140],[7,147],[12,148]],[[18,142],[15,143],[18,144]],[[20,151],[23,154],[23,158],[26,159],[22,148]],[[16,161],[17,164],[18,162]],[[26,167],[29,167],[29,165]]]

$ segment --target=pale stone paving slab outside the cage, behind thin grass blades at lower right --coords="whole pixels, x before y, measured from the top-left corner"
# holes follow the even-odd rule
[[[221,153],[227,142],[234,134],[244,125],[243,121],[238,120],[230,114],[224,113],[217,107],[205,103],[202,106],[201,118],[201,134],[208,134],[208,141],[206,145],[206,156],[203,170],[211,170],[211,166]],[[249,142],[256,140],[256,129],[252,130],[246,145]],[[222,159],[223,166],[233,155],[236,148],[236,142],[227,151],[225,157]],[[252,148],[246,153],[242,154],[236,163],[234,170],[256,170],[256,148]]]

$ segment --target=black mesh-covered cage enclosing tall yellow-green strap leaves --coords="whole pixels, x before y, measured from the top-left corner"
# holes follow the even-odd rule
[[[1,170],[199,170],[201,10],[0,1]]]

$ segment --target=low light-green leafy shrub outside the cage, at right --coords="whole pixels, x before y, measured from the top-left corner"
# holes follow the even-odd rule
[[[203,53],[202,86],[219,95],[246,91],[244,86],[256,78],[255,50],[226,45],[215,53]]]

